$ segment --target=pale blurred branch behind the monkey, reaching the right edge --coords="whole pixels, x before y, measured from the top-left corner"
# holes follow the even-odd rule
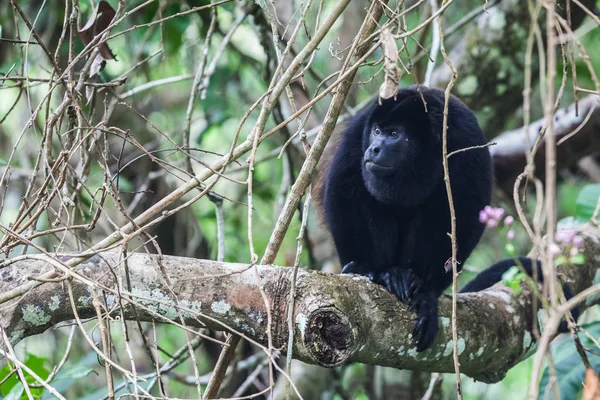
[[[527,164],[526,154],[535,144],[544,128],[544,119],[529,127],[504,132],[493,139],[490,147],[494,158],[494,172],[499,186],[512,192],[516,177]],[[557,110],[554,115],[554,134],[558,143],[557,161],[567,167],[593,152],[600,151],[600,96],[590,95],[577,104]],[[564,142],[563,142],[564,140]],[[539,146],[535,156],[538,176],[543,175],[546,147]]]

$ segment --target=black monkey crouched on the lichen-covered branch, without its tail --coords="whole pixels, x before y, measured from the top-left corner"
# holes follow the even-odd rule
[[[438,297],[452,282],[443,110],[444,92],[424,86],[401,89],[381,104],[375,99],[348,123],[323,188],[342,273],[368,276],[416,310],[418,351],[437,334]],[[473,113],[452,96],[448,152],[485,143]],[[462,263],[484,230],[478,216],[490,203],[488,149],[452,155],[449,171]]]

